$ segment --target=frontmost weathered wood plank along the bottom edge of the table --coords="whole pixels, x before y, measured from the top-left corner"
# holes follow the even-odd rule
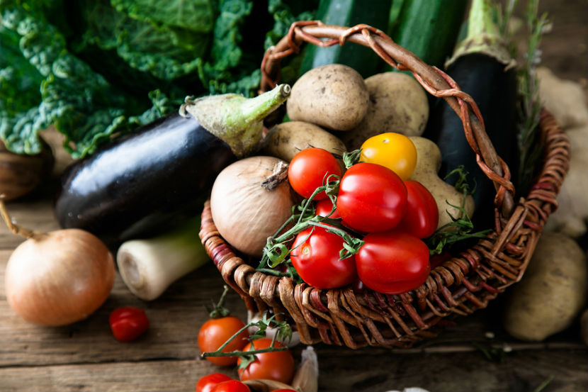
[[[550,355],[512,352],[502,362],[480,353],[373,354],[368,350],[317,346],[322,392],[389,391],[420,386],[435,392],[586,391],[588,366],[582,351],[555,350]],[[361,366],[358,366],[361,364]],[[152,360],[61,366],[0,368],[0,390],[26,391],[193,391],[211,371],[234,376],[205,361]]]

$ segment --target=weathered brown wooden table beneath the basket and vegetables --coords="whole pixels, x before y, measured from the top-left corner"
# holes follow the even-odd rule
[[[543,1],[542,8],[554,22],[553,32],[543,40],[544,64],[586,86],[586,2]],[[11,215],[28,228],[57,229],[50,204],[54,191],[52,178],[21,201],[9,203]],[[133,296],[117,276],[111,296],[90,318],[67,327],[38,327],[15,315],[4,293],[4,266],[20,242],[0,228],[0,391],[193,391],[205,374],[234,375],[232,369],[198,359],[196,335],[207,318],[205,306],[222,292],[212,264],[151,302]],[[320,391],[409,386],[431,392],[536,391],[542,386],[543,391],[587,391],[588,349],[579,340],[578,325],[545,342],[521,342],[502,330],[501,303],[498,298],[412,349],[316,345]],[[108,315],[118,306],[144,308],[151,320],[147,334],[135,342],[116,341]],[[236,294],[229,294],[227,306],[245,316]],[[302,348],[294,349],[297,358]]]

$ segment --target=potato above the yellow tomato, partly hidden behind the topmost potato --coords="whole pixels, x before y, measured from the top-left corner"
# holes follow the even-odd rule
[[[380,133],[407,136],[424,133],[429,120],[429,101],[419,82],[401,72],[376,74],[365,82],[370,94],[368,113],[356,128],[339,135],[350,151]]]

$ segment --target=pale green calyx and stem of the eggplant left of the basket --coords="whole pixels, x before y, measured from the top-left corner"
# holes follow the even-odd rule
[[[259,146],[264,118],[290,96],[290,86],[280,84],[254,98],[239,94],[186,98],[180,108],[182,116],[191,114],[208,132],[224,140],[237,157],[245,157]]]

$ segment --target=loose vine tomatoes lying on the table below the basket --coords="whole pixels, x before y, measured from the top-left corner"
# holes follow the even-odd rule
[[[227,315],[220,318],[210,318],[198,331],[198,347],[201,352],[216,352],[225,342],[228,344],[222,352],[244,352],[268,349],[272,340],[261,337],[251,340],[246,325],[235,316]],[[241,331],[241,332],[239,332]],[[234,335],[238,335],[233,337]],[[285,348],[276,341],[273,347]],[[201,378],[196,384],[196,392],[248,392],[249,387],[242,381],[254,379],[270,379],[288,384],[294,376],[294,357],[289,349],[282,351],[268,351],[254,354],[253,361],[242,366],[243,357],[205,357],[209,362],[219,366],[237,365],[239,380],[231,379],[220,373],[209,374]]]

